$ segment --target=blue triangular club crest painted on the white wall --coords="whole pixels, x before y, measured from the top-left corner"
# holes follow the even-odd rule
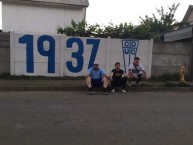
[[[129,39],[122,40],[125,72],[126,70],[128,70],[126,66],[130,65],[132,56],[135,57],[137,55],[138,44],[139,40],[129,40]]]

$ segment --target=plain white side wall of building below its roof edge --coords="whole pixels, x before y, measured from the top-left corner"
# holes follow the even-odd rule
[[[2,29],[22,33],[56,34],[58,26],[66,26],[72,20],[81,21],[84,8],[48,7],[45,5],[11,4],[2,6]]]

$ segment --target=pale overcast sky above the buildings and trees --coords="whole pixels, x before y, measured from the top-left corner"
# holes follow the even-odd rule
[[[152,15],[156,13],[156,8],[163,6],[167,9],[174,3],[180,3],[175,19],[181,21],[189,5],[193,5],[191,0],[89,0],[90,6],[87,8],[86,20],[89,24],[98,23],[108,25],[109,22],[120,24],[132,22],[139,24],[139,16]],[[2,29],[2,7],[0,2],[0,29]]]

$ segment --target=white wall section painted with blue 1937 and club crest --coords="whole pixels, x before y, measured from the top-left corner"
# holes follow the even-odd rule
[[[95,60],[107,73],[117,61],[127,72],[137,55],[150,76],[152,47],[152,40],[11,33],[11,74],[83,76]]]

